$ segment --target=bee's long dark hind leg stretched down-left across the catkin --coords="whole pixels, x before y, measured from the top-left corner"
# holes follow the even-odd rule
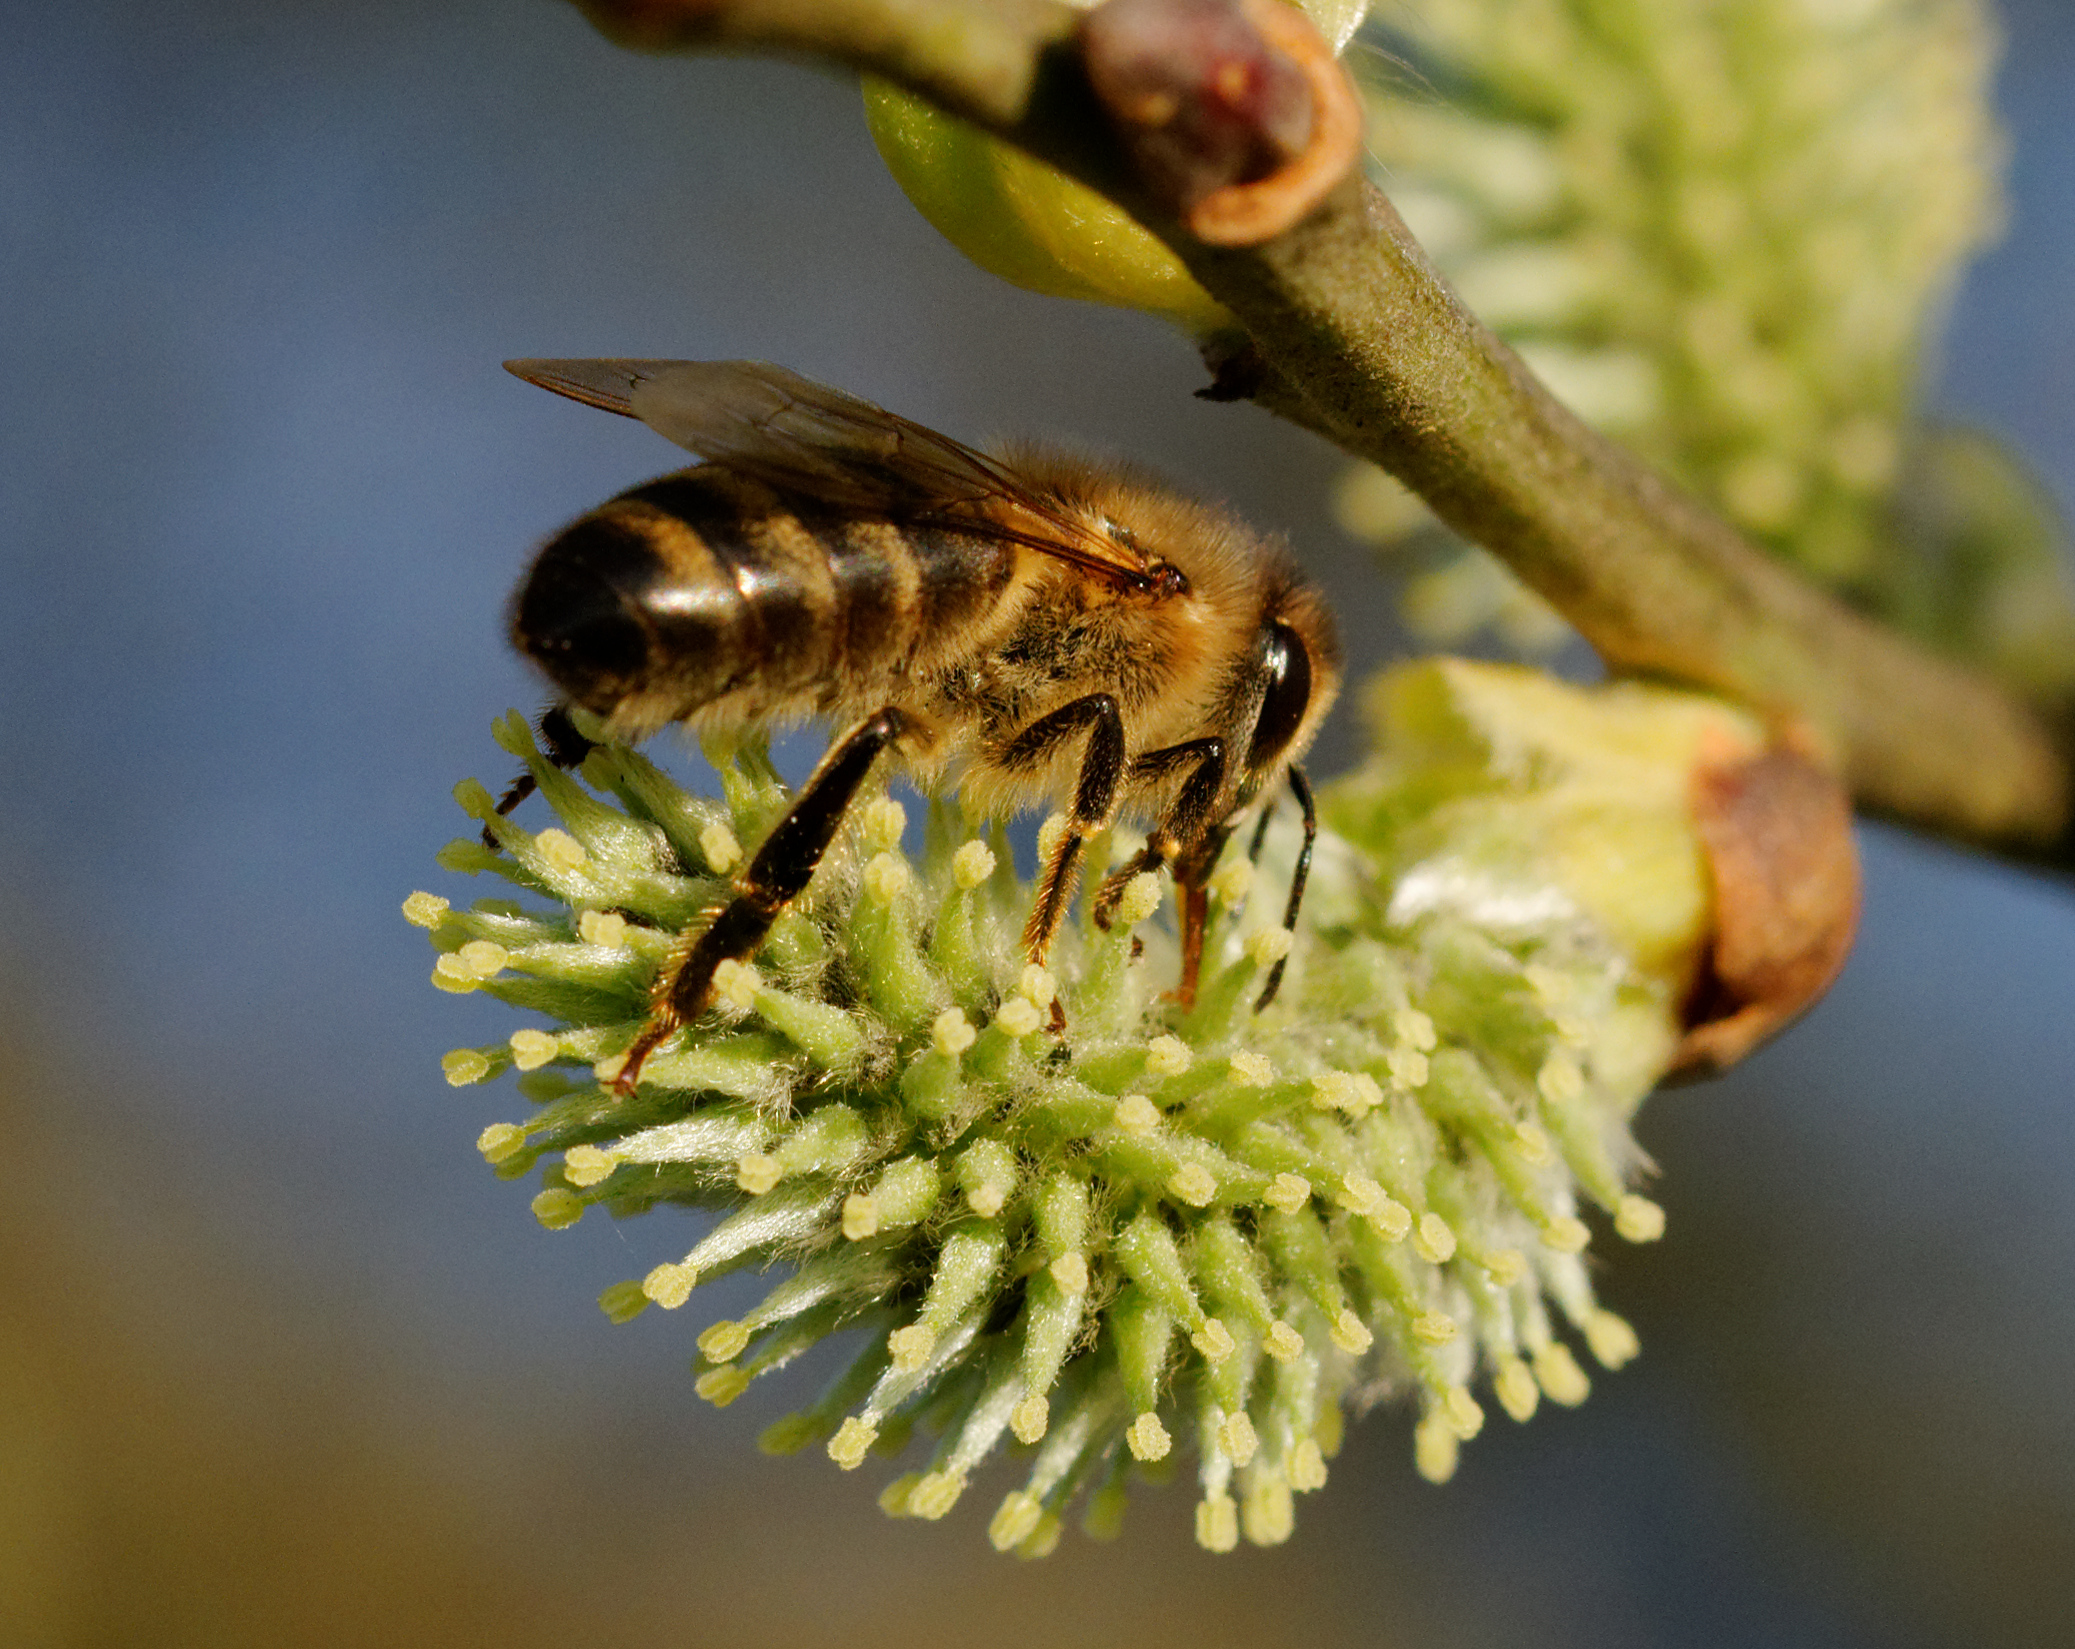
[[[764,838],[755,859],[735,877],[735,898],[691,942],[683,960],[656,981],[656,991],[649,998],[649,1023],[641,1027],[641,1035],[627,1050],[627,1064],[612,1079],[614,1093],[631,1095],[641,1079],[643,1062],[662,1039],[706,1010],[706,1000],[714,989],[714,969],[755,954],[778,913],[799,898],[813,879],[822,855],[836,840],[842,815],[857,799],[857,790],[880,751],[901,738],[909,726],[909,718],[898,709],[882,709],[822,757],[822,765],[813,770],[813,778],[793,799],[772,834]]]

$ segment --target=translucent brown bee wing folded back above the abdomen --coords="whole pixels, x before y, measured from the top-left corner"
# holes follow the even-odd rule
[[[506,361],[587,407],[637,417],[714,465],[830,504],[1013,539],[1123,583],[1141,554],[1015,471],[869,400],[764,361]]]

